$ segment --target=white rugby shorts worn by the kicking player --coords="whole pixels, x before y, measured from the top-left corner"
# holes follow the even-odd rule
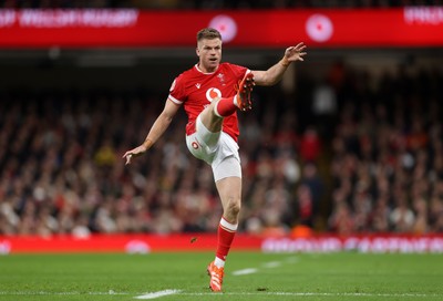
[[[238,144],[224,132],[209,132],[199,116],[196,121],[196,132],[186,136],[186,145],[194,157],[213,167],[215,181],[226,177],[241,178]]]

